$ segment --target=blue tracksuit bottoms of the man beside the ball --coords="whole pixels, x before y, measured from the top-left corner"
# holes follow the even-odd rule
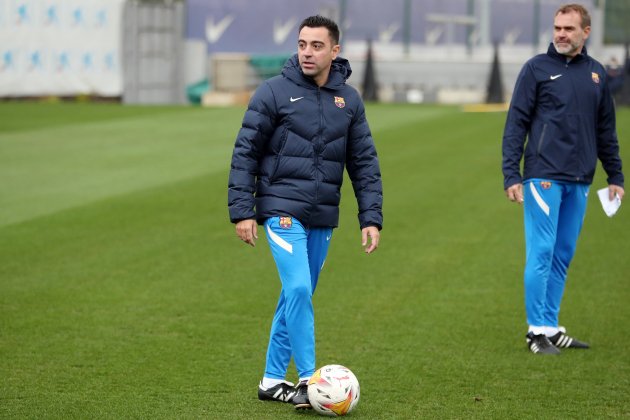
[[[328,253],[332,228],[305,228],[291,217],[265,221],[282,290],[271,325],[265,377],[284,379],[293,356],[300,378],[315,372],[312,297]]]

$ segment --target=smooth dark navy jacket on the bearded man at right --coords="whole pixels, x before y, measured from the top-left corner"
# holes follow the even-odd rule
[[[623,187],[606,70],[586,48],[567,62],[550,44],[525,63],[514,88],[503,134],[504,188],[531,178],[590,184],[598,158],[608,183]]]

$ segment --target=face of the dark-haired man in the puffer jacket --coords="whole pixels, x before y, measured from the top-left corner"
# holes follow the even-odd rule
[[[298,39],[298,59],[302,72],[312,77],[318,86],[324,85],[339,48],[339,45],[332,45],[327,28],[303,27]]]

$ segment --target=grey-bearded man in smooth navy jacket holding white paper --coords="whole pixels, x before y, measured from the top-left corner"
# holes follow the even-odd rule
[[[530,59],[518,76],[503,134],[505,192],[524,203],[526,339],[538,354],[588,348],[565,333],[558,314],[598,158],[609,199],[624,194],[606,70],[584,48],[590,20],[580,5],[558,9],[547,54]]]

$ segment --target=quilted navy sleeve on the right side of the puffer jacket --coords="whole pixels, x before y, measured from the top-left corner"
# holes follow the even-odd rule
[[[359,225],[383,227],[383,185],[374,140],[359,101],[357,114],[349,129],[346,167],[359,208]]]

